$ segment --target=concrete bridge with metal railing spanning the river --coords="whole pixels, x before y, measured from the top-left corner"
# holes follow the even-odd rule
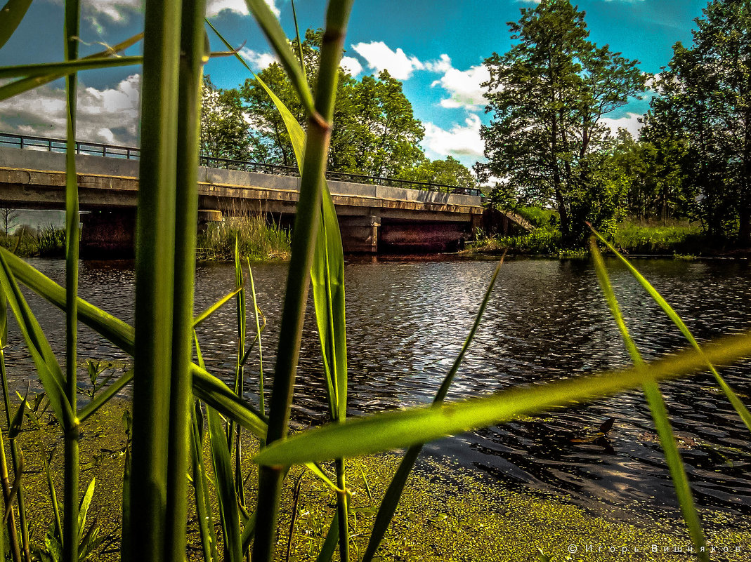
[[[0,134],[0,207],[65,208],[65,140]],[[130,254],[138,159],[134,147],[77,143],[82,254]],[[201,157],[199,221],[261,214],[291,224],[300,194],[297,169]],[[348,253],[445,251],[460,246],[487,212],[477,190],[357,174],[327,174]],[[496,216],[496,221],[498,220]],[[526,227],[501,214],[496,227]]]

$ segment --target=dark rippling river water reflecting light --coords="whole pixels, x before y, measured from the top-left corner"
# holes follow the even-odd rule
[[[38,260],[34,265],[56,280],[63,278],[62,261]],[[351,415],[432,399],[472,325],[494,266],[490,261],[457,260],[348,263]],[[608,266],[644,356],[650,359],[683,347],[677,329],[628,272],[614,261]],[[637,266],[700,340],[751,326],[751,267],[747,262],[640,260]],[[284,264],[254,267],[258,302],[269,320],[263,342],[264,366],[269,372],[285,273]],[[80,293],[132,321],[133,280],[130,263],[85,262]],[[200,266],[197,310],[233,286],[231,266]],[[49,329],[47,333],[64,333],[61,313],[38,299],[30,302],[43,327]],[[199,333],[210,370],[227,377],[233,372],[236,353],[234,323],[234,305],[229,305],[201,326]],[[62,338],[53,341],[61,355],[63,345]],[[80,359],[127,359],[85,328],[80,347]],[[318,337],[309,322],[293,415],[303,424],[323,419],[318,354]],[[33,378],[19,339],[11,341],[8,356],[19,383]],[[628,362],[590,263],[512,260],[502,268],[450,398],[575,377]],[[249,371],[255,380],[255,365]],[[722,374],[751,404],[751,362]],[[698,503],[735,514],[751,512],[749,433],[713,378],[702,374],[665,383],[662,389]],[[572,441],[586,441],[609,417],[615,422],[608,440]],[[442,440],[430,446],[428,453],[453,455],[490,479],[561,492],[585,506],[605,503],[662,509],[675,505],[650,413],[638,392]]]

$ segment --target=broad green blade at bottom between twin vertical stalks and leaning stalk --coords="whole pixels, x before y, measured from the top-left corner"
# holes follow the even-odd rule
[[[240,513],[237,510],[237,494],[232,475],[232,460],[227,448],[227,437],[219,413],[207,408],[209,420],[209,440],[211,458],[214,464],[216,500],[222,518],[222,534],[225,542],[224,559],[228,562],[242,562],[243,543],[240,533]]]

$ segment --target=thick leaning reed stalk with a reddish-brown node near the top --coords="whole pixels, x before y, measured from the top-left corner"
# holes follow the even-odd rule
[[[287,292],[279,329],[279,348],[270,398],[267,443],[286,437],[289,410],[300,353],[300,338],[310,285],[310,266],[315,251],[321,218],[321,182],[331,136],[331,118],[339,77],[344,35],[352,0],[331,0],[326,14],[326,31],[321,44],[321,69],[315,93],[317,115],[309,116],[300,200],[294,222],[292,257],[287,277]],[[261,467],[258,477],[258,518],[253,544],[253,560],[270,562],[279,514],[282,467]]]

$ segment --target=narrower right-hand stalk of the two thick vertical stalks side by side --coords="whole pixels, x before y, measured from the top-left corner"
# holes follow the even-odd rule
[[[205,0],[182,2],[176,161],[174,304],[170,437],[167,467],[167,530],[163,560],[185,560],[185,518],[193,361],[193,293],[198,226],[198,115],[204,65]]]

